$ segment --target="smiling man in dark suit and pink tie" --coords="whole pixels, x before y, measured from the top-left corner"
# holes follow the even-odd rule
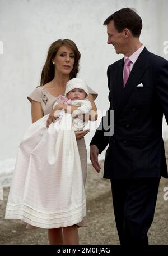
[[[108,67],[114,134],[97,129],[90,159],[100,172],[98,154],[105,149],[104,178],[111,181],[120,244],[147,245],[160,177],[167,176],[162,117],[168,122],[168,61],[147,51],[139,41],[142,20],[123,8],[104,21],[108,44],[124,58]]]

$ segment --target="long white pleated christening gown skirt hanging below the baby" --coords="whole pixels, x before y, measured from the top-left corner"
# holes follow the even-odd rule
[[[48,129],[47,118],[32,124],[20,143],[5,218],[27,228],[86,226],[85,141],[76,141],[71,114]]]

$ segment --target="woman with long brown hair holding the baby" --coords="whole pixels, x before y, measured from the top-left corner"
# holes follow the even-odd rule
[[[53,110],[53,103],[60,95],[64,95],[68,80],[76,77],[80,57],[80,52],[78,51],[76,44],[71,40],[58,40],[50,46],[41,74],[41,87],[36,88],[31,95],[27,97],[31,102],[32,123],[50,113],[46,124],[49,127],[52,122],[55,122],[54,113],[56,110],[64,109],[67,112],[66,104],[58,103]],[[88,118],[90,120],[96,120],[97,116],[95,114],[96,106],[94,104],[94,99],[97,95],[90,88],[89,92],[88,99],[90,100],[92,110],[94,111],[91,112],[91,115],[89,115]],[[71,113],[76,109],[77,106],[72,106]],[[84,184],[87,174],[87,151],[83,137],[87,133],[88,131],[76,132]],[[10,210],[7,210],[6,212],[10,212]],[[50,244],[78,244],[77,226],[86,226],[85,217],[80,223],[76,223],[73,226],[67,225],[67,227],[50,228],[48,230]],[[31,229],[35,227],[27,224],[27,228]]]

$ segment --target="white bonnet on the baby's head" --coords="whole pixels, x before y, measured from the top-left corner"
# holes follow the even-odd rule
[[[83,89],[83,91],[86,92],[87,96],[86,98],[88,97],[89,95],[89,92],[88,92],[88,87],[87,87],[87,83],[85,81],[83,81],[82,79],[80,78],[72,78],[71,80],[69,80],[66,84],[66,91],[65,91],[65,96],[67,96],[67,93],[69,91],[71,91],[72,89],[74,88],[80,88],[80,89]]]

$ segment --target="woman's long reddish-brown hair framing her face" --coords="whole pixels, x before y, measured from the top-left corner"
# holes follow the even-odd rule
[[[71,50],[74,52],[74,65],[73,69],[69,75],[69,78],[72,79],[76,77],[78,71],[79,71],[79,62],[81,58],[81,53],[79,52],[76,44],[69,39],[59,39],[51,44],[48,50],[48,54],[46,57],[46,61],[44,64],[44,67],[41,72],[41,80],[40,80],[40,86],[44,86],[44,84],[50,82],[54,78],[54,65],[52,63],[52,59],[57,54],[59,48],[61,46],[67,46],[68,48],[71,48]]]

